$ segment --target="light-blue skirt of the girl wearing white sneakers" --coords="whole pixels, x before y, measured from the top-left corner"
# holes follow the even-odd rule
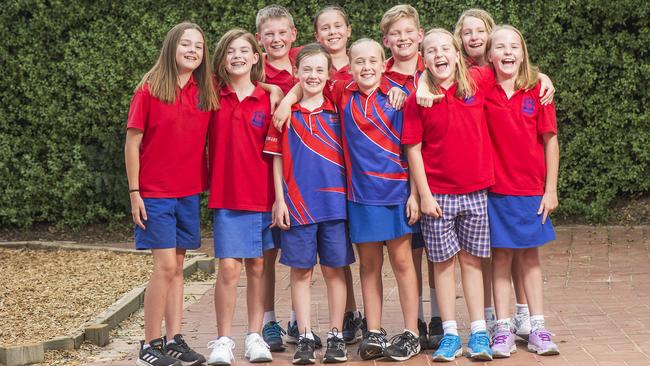
[[[215,258],[258,258],[280,240],[270,212],[217,209],[213,223]]]

